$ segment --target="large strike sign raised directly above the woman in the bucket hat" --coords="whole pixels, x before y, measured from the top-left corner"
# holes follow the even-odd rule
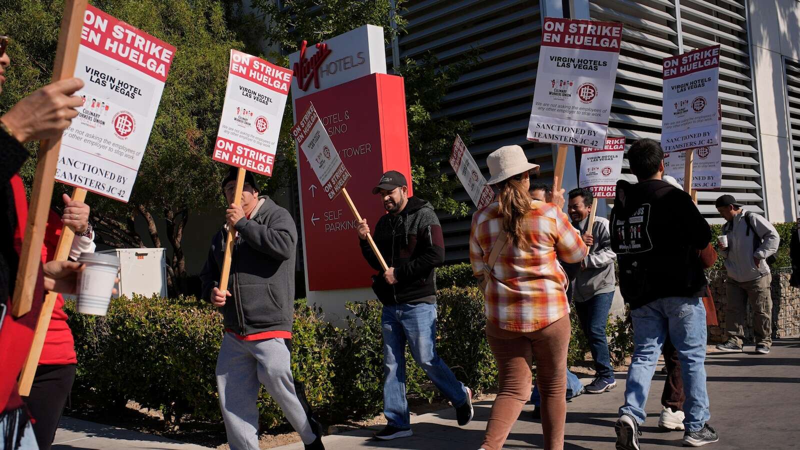
[[[528,140],[602,147],[622,24],[545,18]]]

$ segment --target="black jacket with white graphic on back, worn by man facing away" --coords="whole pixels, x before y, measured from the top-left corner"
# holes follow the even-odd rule
[[[711,228],[686,192],[660,179],[620,180],[610,227],[619,289],[631,308],[705,295],[699,252],[710,242]]]

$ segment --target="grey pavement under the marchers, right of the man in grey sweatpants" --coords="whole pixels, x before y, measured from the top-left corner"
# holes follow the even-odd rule
[[[717,444],[707,448],[781,449],[800,448],[798,405],[800,405],[800,340],[779,340],[767,356],[746,353],[710,353],[706,359],[708,388],[711,402],[709,423],[720,436]],[[567,404],[566,444],[570,449],[614,449],[614,421],[625,392],[626,372],[619,372],[618,387],[611,392],[593,396],[583,395]],[[648,418],[642,427],[642,449],[680,447],[682,432],[662,432],[658,429],[661,412],[661,393],[664,376],[654,376],[647,404]],[[584,380],[584,384],[589,380]],[[474,404],[475,418],[465,428],[459,428],[453,409],[413,416],[414,436],[406,439],[378,442],[369,440],[381,428],[356,430],[326,436],[328,450],[352,448],[404,448],[434,450],[480,448],[491,402]],[[530,416],[532,407],[526,405],[512,428],[505,448],[542,448],[542,425]],[[282,450],[302,450],[302,443],[280,447]]]

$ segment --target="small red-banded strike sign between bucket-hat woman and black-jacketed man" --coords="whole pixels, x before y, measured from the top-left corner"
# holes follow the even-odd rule
[[[583,147],[578,186],[590,189],[598,199],[613,199],[617,195],[617,180],[622,174],[624,154],[625,138],[609,136],[602,148]]]

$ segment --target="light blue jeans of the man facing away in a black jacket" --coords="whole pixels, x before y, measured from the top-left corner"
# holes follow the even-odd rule
[[[634,416],[638,424],[646,418],[645,404],[650,392],[658,356],[667,333],[678,351],[686,402],[683,424],[696,432],[709,420],[706,391],[706,308],[697,297],[666,297],[630,312],[634,326],[634,355],[628,369],[625,404],[619,413]]]

